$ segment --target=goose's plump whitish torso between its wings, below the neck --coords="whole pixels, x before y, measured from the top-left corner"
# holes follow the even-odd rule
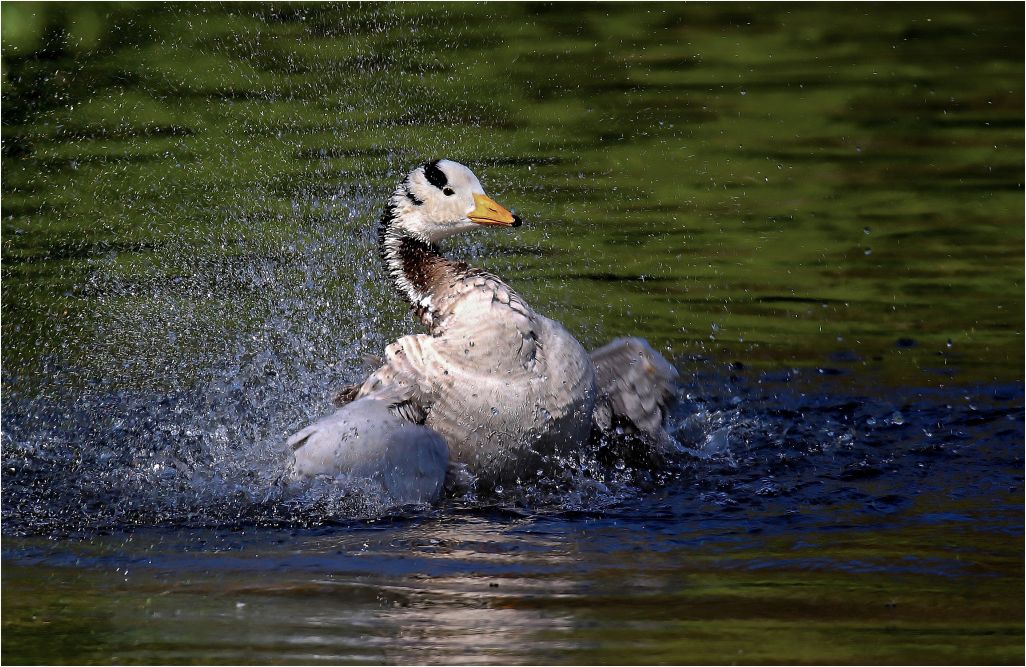
[[[595,371],[566,329],[483,274],[447,284],[436,304],[431,334],[390,345],[358,396],[416,383],[424,425],[444,435],[455,463],[492,481],[532,473],[587,441]]]

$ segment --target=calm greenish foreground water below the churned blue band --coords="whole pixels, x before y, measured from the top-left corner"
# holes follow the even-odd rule
[[[1021,565],[1004,570],[1009,557],[1021,555],[1018,539],[976,541],[986,549],[959,577],[885,572],[902,561],[953,561],[937,546],[949,535],[884,531],[815,545],[773,539],[736,552],[674,547],[671,536],[624,541],[608,526],[546,536],[488,521],[321,537],[272,533],[256,543],[245,532],[142,532],[71,545],[77,566],[5,565],[4,659],[1021,662],[1023,573]],[[620,548],[604,551],[603,540]],[[190,547],[199,551],[183,570]],[[910,548],[922,549],[918,562]],[[147,556],[128,564],[125,555],[141,549]],[[773,564],[810,550],[852,571]],[[105,554],[112,560],[97,559]],[[765,565],[746,563],[753,559]],[[436,572],[418,574],[423,570]]]

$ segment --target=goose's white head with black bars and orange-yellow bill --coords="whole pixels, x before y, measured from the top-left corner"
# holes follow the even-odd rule
[[[389,199],[393,231],[435,243],[478,227],[519,227],[520,219],[484,194],[474,172],[452,160],[417,167]]]

